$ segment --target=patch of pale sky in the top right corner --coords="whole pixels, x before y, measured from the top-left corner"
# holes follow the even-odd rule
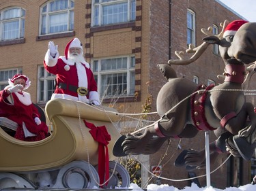
[[[255,0],[219,0],[250,22],[256,22]]]

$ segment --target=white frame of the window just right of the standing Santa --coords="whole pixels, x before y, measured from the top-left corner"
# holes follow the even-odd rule
[[[110,59],[117,59],[117,58],[127,58],[127,68],[124,69],[108,69],[108,70],[102,70],[102,60],[110,60]],[[95,65],[95,63],[98,62],[98,66]],[[91,70],[94,72],[94,77],[96,78],[97,86],[98,86],[98,92],[100,94],[100,97],[102,99],[109,99],[113,97],[132,97],[135,93],[135,56],[118,56],[118,57],[108,57],[108,58],[100,58],[100,59],[94,59],[91,62]],[[106,94],[106,89],[103,90],[103,84],[102,84],[102,75],[112,75],[112,74],[118,74],[118,73],[126,73],[127,79],[126,79],[126,92],[122,92],[121,94],[116,94],[114,92],[111,92],[111,95]],[[131,84],[132,83],[132,84]],[[106,86],[106,85],[105,85]]]

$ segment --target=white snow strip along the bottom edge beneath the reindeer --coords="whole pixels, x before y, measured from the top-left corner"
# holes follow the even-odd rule
[[[142,191],[143,189],[139,188],[137,184],[130,184],[130,189],[132,191]],[[149,184],[147,186],[147,191],[178,191],[180,189],[177,189],[173,186],[169,186],[167,184],[162,185],[156,185],[156,184]],[[221,191],[221,189],[213,188],[210,186],[209,188],[199,188],[196,184],[192,184],[191,187],[185,187],[184,189],[181,189],[182,191]],[[225,191],[255,191],[256,190],[256,184],[246,184],[244,186],[240,186],[239,188],[236,187],[229,187],[225,188]]]

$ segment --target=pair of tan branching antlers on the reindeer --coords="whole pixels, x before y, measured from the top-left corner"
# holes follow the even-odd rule
[[[223,33],[225,27],[227,27],[227,20],[224,21],[224,24],[221,23],[220,26],[222,27],[221,33],[218,35],[214,35],[218,37],[218,39],[223,39]],[[212,27],[208,27],[208,29],[201,29],[201,32],[207,36],[211,35],[212,36]],[[200,46],[194,47],[193,44],[188,45],[188,49],[186,49],[186,53],[194,53],[193,56],[190,58],[186,59],[184,58],[184,52],[183,51],[175,51],[175,55],[180,58],[179,60],[174,59],[174,60],[168,60],[169,65],[188,65],[190,63],[193,63],[197,58],[199,58],[203,52],[208,48],[209,44],[207,42],[203,42]]]

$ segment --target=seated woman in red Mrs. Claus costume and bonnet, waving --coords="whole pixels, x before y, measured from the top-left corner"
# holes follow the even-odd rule
[[[48,126],[40,120],[38,109],[33,105],[27,76],[16,74],[9,79],[9,86],[0,92],[0,116],[18,124],[14,137],[23,141],[39,141],[48,136]]]

